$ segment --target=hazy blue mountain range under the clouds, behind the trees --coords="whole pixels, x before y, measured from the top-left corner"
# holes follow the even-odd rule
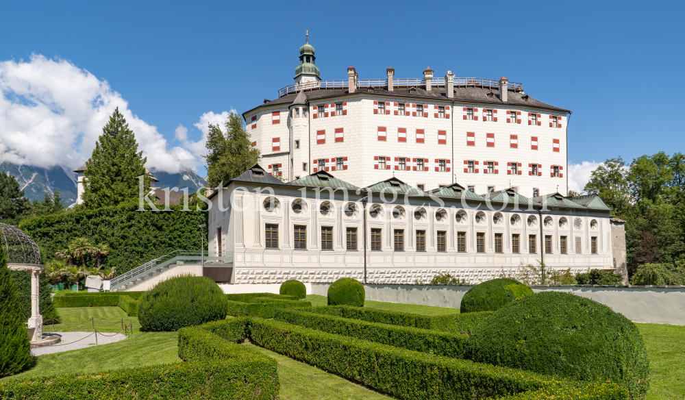
[[[71,168],[77,168],[79,165]],[[24,191],[24,197],[30,200],[40,200],[45,192],[60,190],[60,195],[64,199],[64,205],[69,206],[76,202],[77,186],[75,172],[64,170],[60,166],[53,168],[40,168],[38,166],[16,165],[10,162],[0,164],[0,171],[13,175],[19,183],[19,188]],[[160,180],[155,186],[158,188],[174,188],[181,190],[188,188],[188,194],[195,193],[201,186],[207,185],[207,180],[197,175],[192,169],[184,169],[179,173],[166,173],[155,171],[151,168],[150,172]],[[186,179],[184,179],[186,178]]]

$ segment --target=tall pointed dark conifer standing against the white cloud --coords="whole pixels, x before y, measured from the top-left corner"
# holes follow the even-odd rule
[[[138,177],[144,179],[143,192],[149,192],[150,177],[145,171],[147,158],[138,151],[134,132],[129,129],[119,108],[102,128],[84,171],[84,207],[90,210],[119,205],[138,199]]]

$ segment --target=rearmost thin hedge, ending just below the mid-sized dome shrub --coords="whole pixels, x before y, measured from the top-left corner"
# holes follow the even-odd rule
[[[480,321],[492,314],[486,312],[472,312],[469,314],[425,315],[411,312],[397,312],[375,310],[373,308],[358,308],[347,305],[328,307],[314,307],[310,312],[340,316],[342,318],[360,319],[362,321],[415,327],[433,331],[456,332],[468,334]]]

